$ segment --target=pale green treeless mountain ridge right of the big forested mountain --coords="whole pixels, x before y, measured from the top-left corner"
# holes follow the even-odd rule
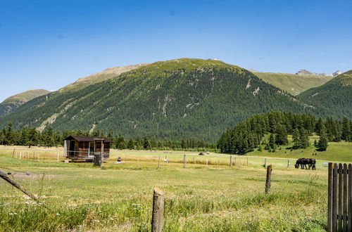
[[[264,82],[272,84],[294,96],[307,89],[325,84],[332,79],[330,76],[294,75],[279,72],[255,72],[253,74],[263,79]]]

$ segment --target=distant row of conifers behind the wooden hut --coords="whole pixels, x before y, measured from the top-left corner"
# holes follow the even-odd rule
[[[54,130],[52,127],[46,127],[43,131],[37,130],[35,127],[24,127],[22,130],[14,130],[13,124],[8,123],[8,127],[4,127],[0,131],[0,144],[9,146],[63,146],[64,139],[68,136],[101,136],[113,140],[112,148],[117,149],[136,149],[136,150],[216,150],[215,143],[206,143],[203,139],[188,138],[184,140],[157,139],[155,136],[149,138],[147,136],[136,138],[125,138],[124,136],[113,134],[113,130],[109,129],[107,133],[103,130],[94,130],[92,132],[74,130]]]

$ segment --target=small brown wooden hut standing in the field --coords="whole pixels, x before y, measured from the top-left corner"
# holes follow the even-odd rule
[[[104,160],[110,157],[113,141],[104,137],[68,136],[65,138],[64,156],[70,160],[94,160],[95,153],[102,153]]]

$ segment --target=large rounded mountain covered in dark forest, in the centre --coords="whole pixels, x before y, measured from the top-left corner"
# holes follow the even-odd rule
[[[270,110],[331,112],[308,105],[253,73],[220,60],[182,58],[144,65],[85,88],[56,91],[0,117],[0,127],[113,129],[123,136],[198,137]]]

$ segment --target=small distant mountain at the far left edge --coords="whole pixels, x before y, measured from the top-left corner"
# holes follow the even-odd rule
[[[8,115],[20,105],[23,105],[23,103],[26,103],[27,101],[30,101],[33,98],[37,98],[38,96],[48,94],[49,92],[50,91],[47,91],[45,89],[33,89],[6,98],[5,101],[0,103],[0,117]]]

